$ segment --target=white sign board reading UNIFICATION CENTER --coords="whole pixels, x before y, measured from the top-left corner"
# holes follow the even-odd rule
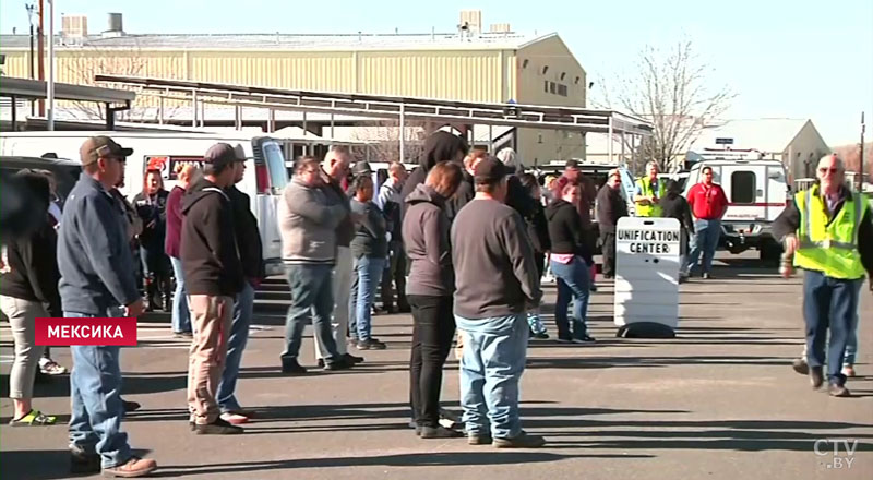
[[[624,217],[615,230],[615,325],[679,323],[679,254],[675,218]],[[655,325],[656,327],[658,325]],[[642,329],[642,328],[641,328]]]

